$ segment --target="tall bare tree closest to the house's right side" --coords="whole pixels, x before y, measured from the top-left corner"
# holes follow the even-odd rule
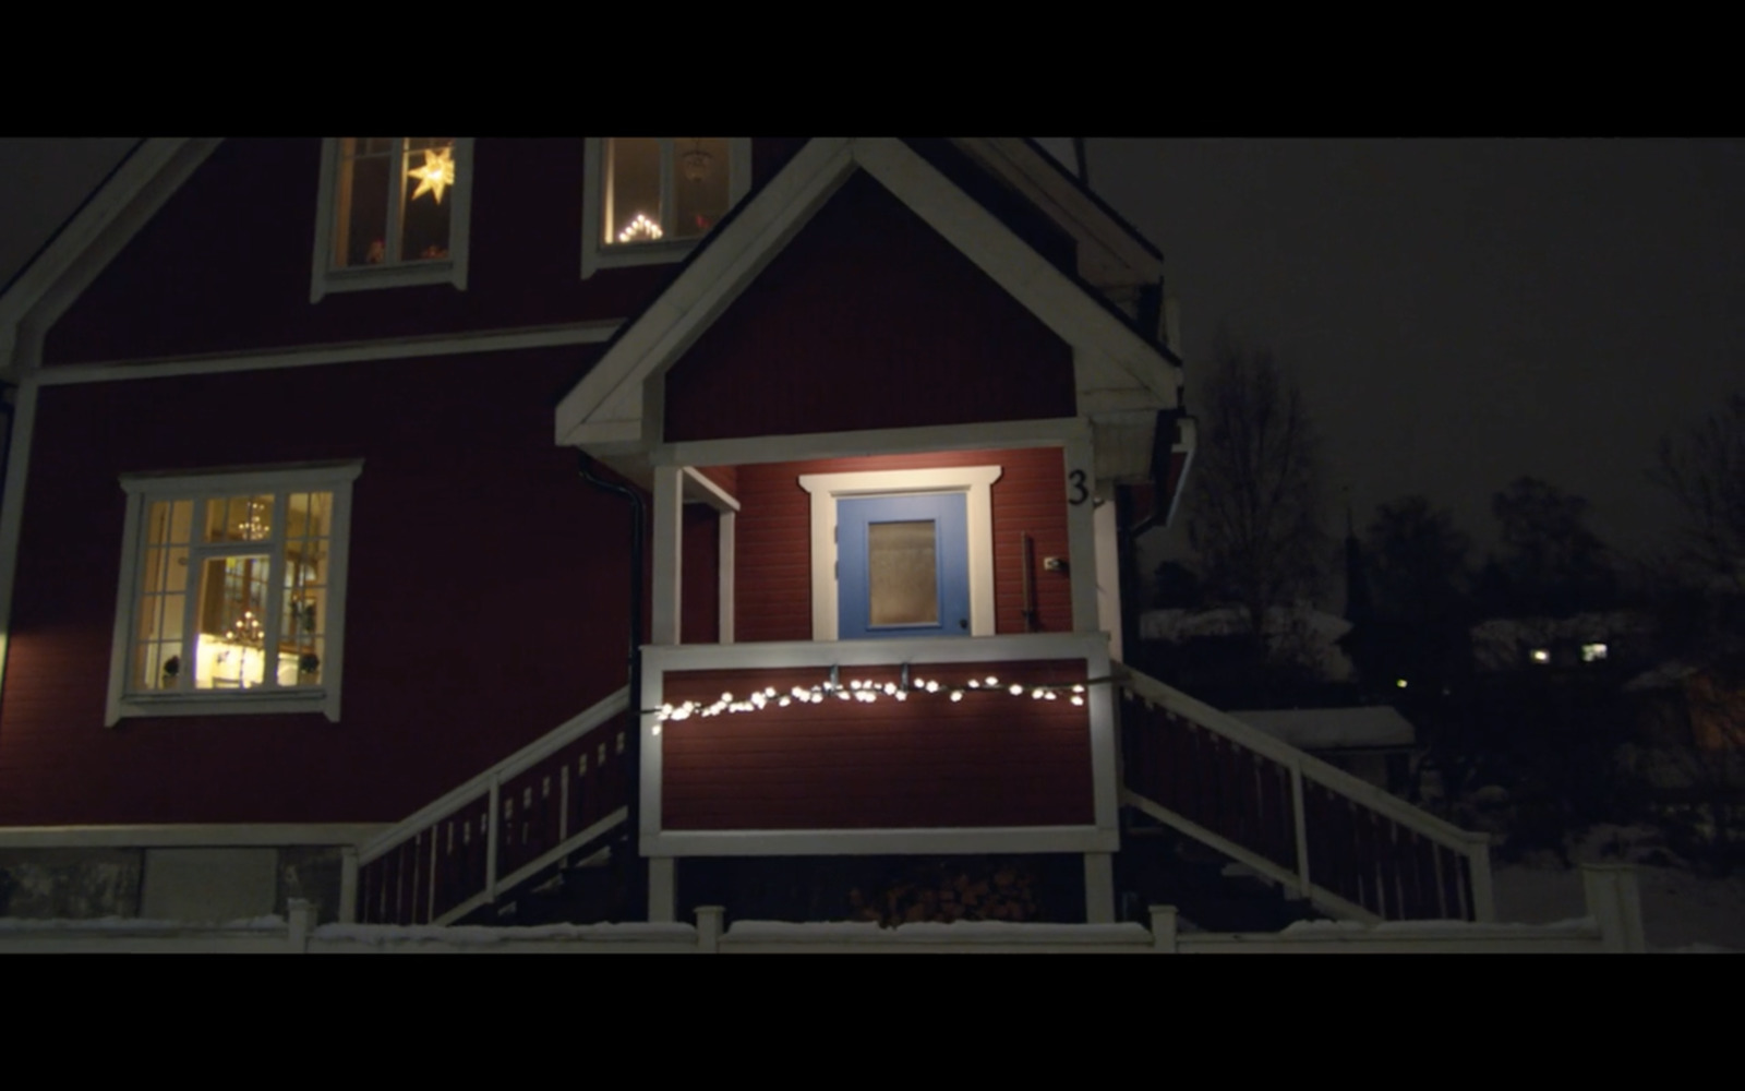
[[[1267,611],[1312,595],[1326,571],[1321,443],[1302,389],[1270,353],[1223,335],[1213,368],[1195,410],[1188,538],[1208,587],[1242,609],[1263,646]]]

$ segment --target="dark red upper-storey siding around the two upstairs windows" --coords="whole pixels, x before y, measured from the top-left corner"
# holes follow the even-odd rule
[[[754,143],[766,178],[794,138]],[[321,141],[225,140],[49,332],[51,363],[626,318],[670,265],[581,279],[583,140],[478,138],[468,288],[309,302]],[[544,398],[544,393],[541,393]]]

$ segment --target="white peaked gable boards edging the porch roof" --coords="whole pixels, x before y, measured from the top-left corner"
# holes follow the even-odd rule
[[[1176,405],[1180,368],[1085,285],[897,138],[813,138],[689,257],[557,408],[557,442],[614,456],[660,442],[646,396],[855,171],[866,171],[1073,347],[1078,410]],[[1152,251],[1155,255],[1155,251]]]

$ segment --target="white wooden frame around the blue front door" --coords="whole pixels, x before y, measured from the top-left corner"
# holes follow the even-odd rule
[[[1000,480],[1000,466],[803,473],[799,487],[811,494],[811,639],[839,639],[836,628],[836,501],[850,496],[920,492],[963,492],[968,497],[970,635],[991,637],[995,630],[993,484]]]

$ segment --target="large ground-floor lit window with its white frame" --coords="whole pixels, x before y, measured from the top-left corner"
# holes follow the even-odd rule
[[[108,723],[194,712],[339,719],[358,464],[136,477]]]

